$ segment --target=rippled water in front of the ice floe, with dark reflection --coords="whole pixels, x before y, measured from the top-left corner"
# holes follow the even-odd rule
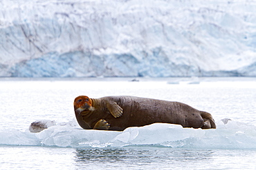
[[[256,150],[0,147],[0,169],[255,169]]]

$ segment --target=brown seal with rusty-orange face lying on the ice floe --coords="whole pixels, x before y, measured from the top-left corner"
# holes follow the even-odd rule
[[[167,100],[135,96],[78,96],[74,101],[74,109],[77,122],[84,129],[122,131],[127,127],[141,127],[152,123],[216,128],[211,114],[184,103]]]

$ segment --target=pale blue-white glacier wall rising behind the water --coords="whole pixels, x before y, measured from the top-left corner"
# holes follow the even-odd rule
[[[0,76],[256,76],[256,2],[0,1]]]

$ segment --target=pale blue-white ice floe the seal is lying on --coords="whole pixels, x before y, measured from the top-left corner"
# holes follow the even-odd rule
[[[154,145],[155,147],[190,149],[256,148],[256,127],[233,120],[219,120],[217,129],[207,130],[155,123],[145,127],[129,127],[125,131],[100,131],[81,129],[74,118],[71,122],[53,125],[39,133],[31,133],[28,129],[26,131],[3,129],[0,134],[2,136],[0,145],[53,147]]]

